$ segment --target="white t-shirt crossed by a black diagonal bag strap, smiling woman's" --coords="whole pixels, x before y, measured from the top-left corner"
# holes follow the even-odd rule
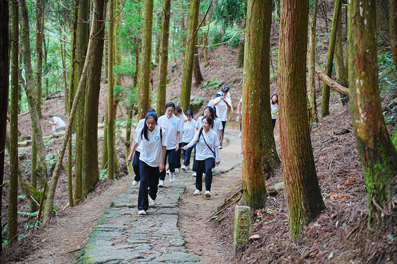
[[[214,154],[212,151],[215,152],[215,147],[219,146],[218,135],[211,129],[208,131],[208,134],[205,134],[205,131],[202,130],[202,134],[199,139],[199,133],[200,133],[200,130],[196,132],[195,137],[187,145],[187,147],[190,148],[190,147],[194,146],[195,143],[197,142],[196,160],[204,160],[207,158],[214,158]],[[208,146],[211,148],[212,151],[208,148],[207,144],[205,144],[203,138],[205,138],[205,142],[208,144]],[[217,157],[216,161],[218,161],[218,160],[219,160],[219,157]]]

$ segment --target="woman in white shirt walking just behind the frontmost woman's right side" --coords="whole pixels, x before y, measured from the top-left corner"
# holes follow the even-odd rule
[[[175,165],[177,163],[177,151],[179,150],[179,140],[181,138],[182,122],[174,115],[175,104],[167,103],[165,105],[165,115],[160,116],[157,123],[167,131],[167,152],[165,154],[164,166],[167,162],[170,169],[170,182],[175,181]],[[164,187],[165,170],[160,173],[160,182],[158,187]]]

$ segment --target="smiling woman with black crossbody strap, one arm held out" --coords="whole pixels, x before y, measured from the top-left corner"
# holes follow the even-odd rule
[[[204,116],[201,122],[201,129],[196,132],[193,140],[183,149],[187,150],[196,146],[196,191],[195,194],[201,194],[202,191],[202,173],[205,172],[205,197],[211,197],[212,168],[214,164],[219,165],[219,138],[215,131],[209,127],[212,124],[210,116]]]

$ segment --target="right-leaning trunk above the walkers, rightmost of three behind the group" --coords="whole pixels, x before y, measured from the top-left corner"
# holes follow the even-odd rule
[[[182,87],[181,87],[181,106],[183,109],[190,108],[190,93],[192,90],[192,77],[193,77],[193,63],[195,56],[195,47],[197,43],[196,29],[199,24],[199,7],[200,0],[191,0],[190,2],[190,16],[189,16],[189,42],[186,44],[185,61],[183,63],[182,71]],[[194,35],[196,32],[196,35]]]

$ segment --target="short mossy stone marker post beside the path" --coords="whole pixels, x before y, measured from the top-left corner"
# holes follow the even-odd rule
[[[238,245],[248,240],[250,235],[250,215],[251,208],[248,206],[236,206],[234,213],[234,237],[233,237],[233,256],[236,257]]]

